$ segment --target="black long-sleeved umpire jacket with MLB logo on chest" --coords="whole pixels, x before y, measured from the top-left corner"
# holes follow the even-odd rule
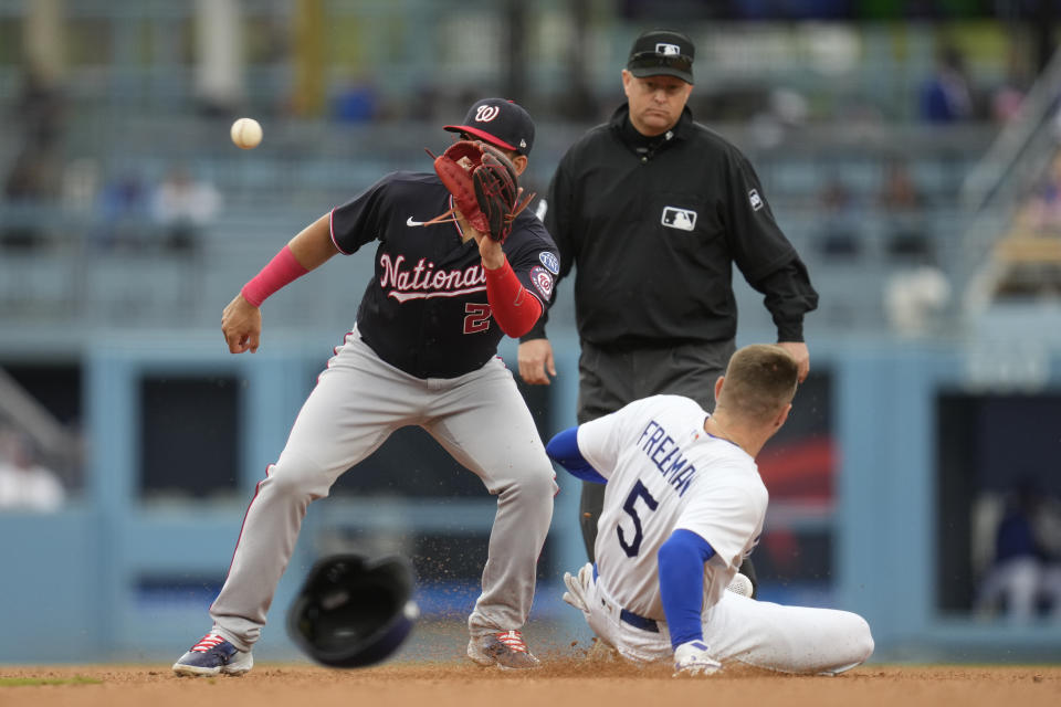
[[[581,339],[601,347],[733,339],[736,263],[766,295],[778,340],[803,340],[803,314],[818,305],[807,267],[752,165],[689,108],[672,130],[648,138],[621,106],[567,151],[545,207],[559,277],[578,263]],[[522,339],[544,338],[545,320]]]

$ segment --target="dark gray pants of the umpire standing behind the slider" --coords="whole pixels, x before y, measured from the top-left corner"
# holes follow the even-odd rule
[[[737,350],[733,339],[682,344],[669,348],[608,348],[582,341],[578,359],[578,423],[614,412],[641,398],[676,394],[704,410],[715,409],[715,381]],[[582,482],[579,524],[586,555],[593,561],[597,520],[605,505],[605,484]]]

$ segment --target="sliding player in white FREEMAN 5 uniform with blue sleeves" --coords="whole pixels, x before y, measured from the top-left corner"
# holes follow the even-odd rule
[[[607,484],[597,563],[564,576],[564,600],[623,657],[673,658],[675,675],[729,661],[836,674],[873,652],[857,614],[726,591],[763,531],[755,456],[785,423],[797,374],[780,347],[748,346],[715,383],[711,415],[689,398],[654,395],[549,442],[568,472]]]

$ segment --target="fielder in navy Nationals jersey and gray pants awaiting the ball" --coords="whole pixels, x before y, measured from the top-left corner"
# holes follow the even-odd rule
[[[526,169],[534,124],[515,103],[480,101],[462,124],[445,129],[489,143],[518,172]],[[482,594],[468,622],[469,657],[503,668],[538,665],[519,630],[557,486],[530,412],[496,351],[503,336],[525,334],[546,309],[559,260],[530,211],[516,218],[503,244],[459,212],[455,222],[426,225],[452,205],[433,172],[388,175],[298,233],[225,307],[229,350],[255,351],[265,297],[337,253],[378,242],[356,326],[259,483],[210,608],[213,625],[174,665],[177,674],[251,669],[251,648],[309,502],[327,496],[340,474],[405,425],[427,430],[497,496]]]

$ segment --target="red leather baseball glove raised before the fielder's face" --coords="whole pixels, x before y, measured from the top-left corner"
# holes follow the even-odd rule
[[[435,173],[453,196],[454,207],[423,224],[455,221],[453,212],[460,211],[474,229],[503,243],[516,215],[534,199],[533,193],[523,197],[512,160],[501,150],[473,140],[454,143],[439,157],[431,157]]]

